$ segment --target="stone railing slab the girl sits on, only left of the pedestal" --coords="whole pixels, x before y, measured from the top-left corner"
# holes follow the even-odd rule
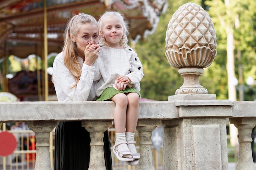
[[[0,121],[36,120],[113,120],[115,103],[87,102],[0,102]],[[177,118],[174,101],[143,101],[139,105],[139,119]]]

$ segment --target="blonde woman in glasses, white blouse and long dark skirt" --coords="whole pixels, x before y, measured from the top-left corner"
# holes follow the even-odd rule
[[[93,82],[99,55],[97,21],[84,13],[74,15],[64,33],[64,48],[53,64],[52,80],[58,101],[89,101],[96,99]],[[88,51],[90,49],[90,51]],[[104,136],[107,170],[112,170],[108,131]],[[54,170],[88,170],[90,134],[81,121],[58,122],[55,130]]]

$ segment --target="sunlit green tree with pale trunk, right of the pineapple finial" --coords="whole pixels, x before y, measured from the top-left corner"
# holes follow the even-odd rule
[[[229,95],[236,94],[232,78],[238,77],[239,85],[245,84],[246,78],[255,77],[255,7],[251,0],[208,0],[209,14],[217,33],[218,55],[215,62],[223,67],[227,64]],[[238,88],[239,90],[239,88]],[[225,90],[226,91],[226,90]],[[225,91],[222,91],[224,94]],[[240,99],[244,89],[240,88]],[[236,96],[229,97],[236,100]]]

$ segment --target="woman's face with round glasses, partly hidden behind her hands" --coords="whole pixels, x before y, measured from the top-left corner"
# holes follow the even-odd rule
[[[95,44],[95,42],[93,41],[93,37],[95,35],[98,35],[99,30],[98,30],[98,26],[97,24],[92,24],[92,23],[88,23],[88,24],[82,24],[79,28],[79,31],[77,32],[77,35],[74,37],[74,40],[76,41],[76,47],[79,50],[79,53],[84,55],[84,51],[85,51],[85,47],[88,46],[88,44],[85,44],[83,42],[84,37],[90,37],[90,43],[91,44]]]

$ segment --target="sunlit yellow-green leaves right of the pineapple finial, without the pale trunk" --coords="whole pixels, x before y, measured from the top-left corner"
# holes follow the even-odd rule
[[[233,30],[235,40],[235,76],[241,80],[238,86],[243,86],[243,84],[246,84],[246,79],[249,75],[256,79],[256,1],[232,0],[229,5],[225,5],[225,2],[223,0],[206,1],[206,4],[209,5],[208,13],[213,20],[217,33],[218,55],[215,62],[220,64],[220,66],[227,64],[226,46],[228,42],[225,27],[229,25],[231,26],[230,29]],[[218,15],[221,15],[223,20],[220,20]],[[239,61],[239,58],[241,58],[241,61]],[[239,67],[243,68],[242,74],[239,74]],[[246,89],[242,89],[242,91],[245,92],[245,99],[254,99],[252,91],[249,93],[247,93]],[[222,93],[225,92],[226,90],[222,91]]]

